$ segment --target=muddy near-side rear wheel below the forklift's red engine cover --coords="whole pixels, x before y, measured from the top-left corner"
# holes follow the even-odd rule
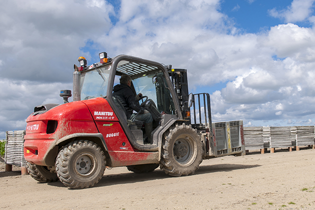
[[[87,188],[101,179],[105,170],[105,155],[94,142],[76,140],[59,151],[55,167],[64,185],[70,188]]]

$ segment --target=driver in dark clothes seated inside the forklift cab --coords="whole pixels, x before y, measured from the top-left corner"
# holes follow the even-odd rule
[[[131,77],[126,74],[122,74],[119,79],[120,84],[117,84],[113,87],[112,95],[115,96],[123,105],[126,110],[127,119],[132,115],[132,110],[138,112],[135,119],[144,122],[144,129],[147,135],[148,143],[151,142],[151,132],[152,132],[152,115],[147,110],[143,109],[137,99],[134,96],[134,93],[130,87]],[[141,97],[142,94],[139,93],[136,95],[137,98]]]

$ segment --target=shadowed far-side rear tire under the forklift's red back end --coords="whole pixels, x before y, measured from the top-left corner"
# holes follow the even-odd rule
[[[29,175],[42,183],[45,182],[53,182],[58,180],[58,176],[56,173],[50,172],[46,166],[35,165],[29,162],[26,162],[26,168]]]

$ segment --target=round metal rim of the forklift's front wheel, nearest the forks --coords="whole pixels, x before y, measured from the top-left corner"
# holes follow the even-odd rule
[[[180,165],[189,165],[195,156],[195,143],[191,136],[180,135],[173,145],[174,159]]]

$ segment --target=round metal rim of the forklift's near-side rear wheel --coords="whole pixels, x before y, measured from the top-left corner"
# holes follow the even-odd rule
[[[97,168],[96,157],[89,152],[83,152],[76,156],[73,162],[75,173],[80,177],[88,177],[94,174]]]

